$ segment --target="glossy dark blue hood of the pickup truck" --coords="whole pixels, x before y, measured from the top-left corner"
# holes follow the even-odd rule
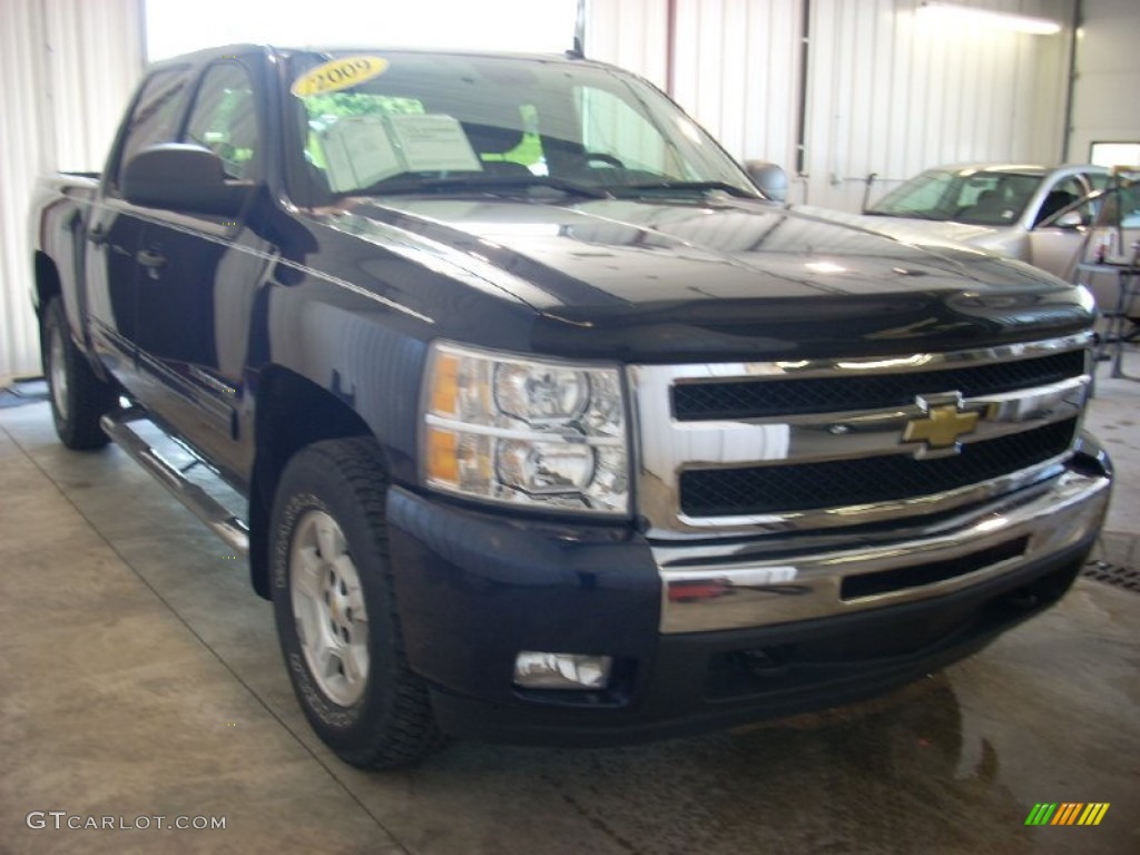
[[[384,197],[325,222],[530,307],[540,352],[913,352],[1069,334],[1092,320],[1088,294],[1028,266],[759,201]]]

